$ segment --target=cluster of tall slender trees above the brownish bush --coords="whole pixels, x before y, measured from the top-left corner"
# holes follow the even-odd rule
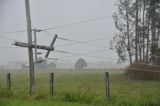
[[[160,0],[117,0],[111,41],[118,62],[160,64]]]

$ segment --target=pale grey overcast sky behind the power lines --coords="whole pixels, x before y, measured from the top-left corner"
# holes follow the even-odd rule
[[[115,12],[115,0],[30,0],[32,28],[46,29],[50,27],[63,26],[77,23],[89,19],[106,17],[108,18],[78,24],[75,26],[48,30],[51,36],[58,34],[59,37],[87,41],[101,38],[108,38],[101,41],[90,42],[85,44],[72,44],[66,46],[57,46],[56,50],[62,50],[73,53],[86,53],[93,51],[103,51],[109,49],[109,41],[112,39],[115,28],[112,15]],[[0,0],[0,32],[12,32],[26,30],[25,0]],[[37,33],[38,44],[49,45],[53,37],[46,32]],[[19,41],[27,42],[26,32],[1,34],[14,38]],[[28,50],[25,48],[10,48],[13,40],[0,38],[1,55],[0,62],[9,61],[28,61]],[[72,43],[71,41],[57,40],[55,45]],[[94,45],[94,46],[91,46]],[[46,51],[42,51],[43,53]],[[85,58],[88,62],[111,61],[117,62],[117,55],[111,50],[88,54],[101,58],[88,56],[70,56],[52,52],[50,58],[62,58],[75,62],[78,58]],[[44,57],[44,55],[41,55]],[[107,59],[103,59],[107,58]]]

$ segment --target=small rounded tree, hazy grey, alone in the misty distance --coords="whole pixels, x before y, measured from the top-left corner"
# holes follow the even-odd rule
[[[87,62],[84,60],[84,59],[82,59],[82,58],[80,58],[80,59],[78,59],[77,60],[77,62],[75,63],[75,69],[77,69],[77,70],[83,70],[84,68],[86,68],[87,67]]]

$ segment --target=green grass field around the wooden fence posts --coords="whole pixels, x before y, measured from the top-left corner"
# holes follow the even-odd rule
[[[11,72],[12,94],[0,72],[0,106],[160,106],[160,81],[125,80],[110,71],[111,98],[105,97],[104,71],[56,71],[55,95],[49,95],[49,71],[36,72],[36,92],[29,92],[29,74]]]

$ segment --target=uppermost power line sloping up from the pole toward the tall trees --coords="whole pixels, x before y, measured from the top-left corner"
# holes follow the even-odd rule
[[[71,24],[66,24],[66,25],[61,25],[61,26],[55,26],[55,27],[46,28],[46,29],[43,29],[43,31],[45,31],[45,30],[55,30],[55,29],[60,29],[60,28],[71,27],[71,26],[75,26],[75,25],[79,25],[79,24],[94,22],[94,21],[98,21],[98,20],[104,20],[104,19],[107,19],[107,18],[110,18],[110,17],[112,17],[112,16],[104,16],[104,17],[99,17],[99,18],[88,19],[88,20],[84,20],[84,21],[80,21],[80,22],[71,23]]]

